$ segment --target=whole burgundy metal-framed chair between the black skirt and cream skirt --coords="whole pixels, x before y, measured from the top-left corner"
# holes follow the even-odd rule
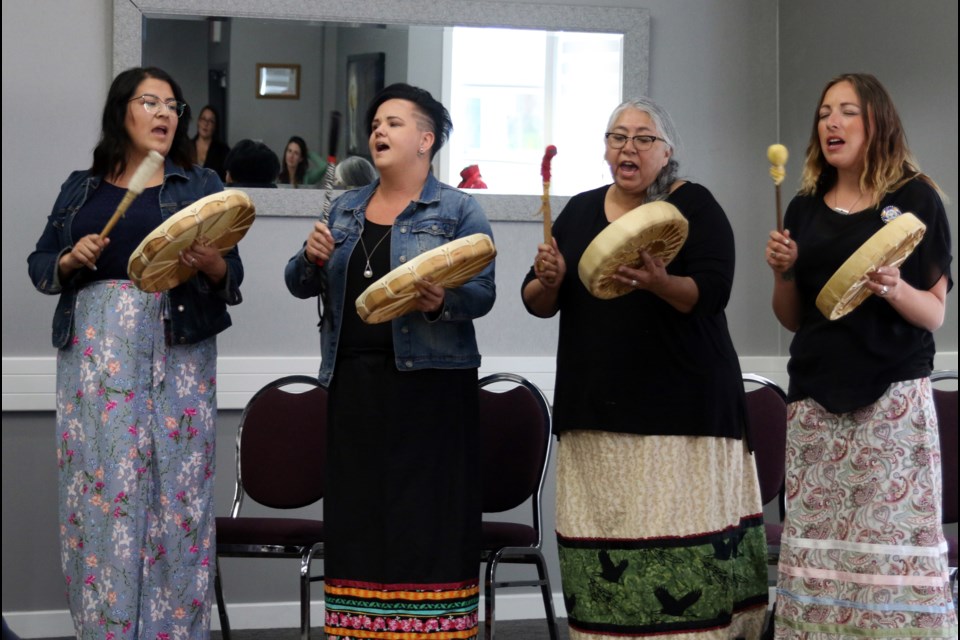
[[[506,391],[488,389],[509,386]],[[486,376],[480,386],[481,477],[484,516],[509,511],[529,501],[529,523],[483,520],[480,558],[486,562],[484,598],[486,639],[496,632],[496,589],[540,587],[551,640],[558,640],[553,592],[543,557],[541,499],[553,436],[550,407],[533,383],[511,373]],[[501,563],[533,564],[536,580],[497,581]]]

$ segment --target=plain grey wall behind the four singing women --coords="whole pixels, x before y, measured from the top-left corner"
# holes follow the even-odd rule
[[[584,3],[635,7],[637,0]],[[960,198],[956,3],[650,0],[644,6],[651,15],[649,93],[677,122],[684,141],[683,172],[714,192],[737,236],[737,280],[728,309],[734,342],[741,356],[783,356],[788,335],[770,314],[770,277],[761,255],[773,217],[766,147],[782,140],[798,157],[820,86],[840,68],[848,68],[849,61],[874,71],[892,88],[923,166],[955,200]],[[2,10],[3,356],[50,356],[49,325],[56,301],[33,291],[25,259],[60,183],[69,171],[89,165],[111,80],[112,2],[7,0]],[[318,46],[317,60],[320,53]],[[231,69],[239,69],[239,54],[234,54]],[[287,55],[275,51],[270,57],[284,61]],[[242,64],[252,77],[253,64],[265,60],[247,58]],[[304,72],[314,70],[306,67]],[[234,85],[235,90],[243,88]],[[300,104],[321,104],[320,93],[318,88],[305,95]],[[315,115],[317,128],[306,133],[319,139],[325,125],[320,114]],[[251,123],[272,122],[277,131],[271,136],[282,139],[280,144],[292,133],[281,131],[286,116],[279,110],[250,118]],[[243,127],[235,128],[231,137],[240,131]],[[788,182],[796,179],[797,167],[791,161]],[[956,232],[956,205],[949,214]],[[283,264],[307,226],[301,219],[264,218],[244,239],[246,301],[233,312],[235,327],[220,340],[221,355],[315,352],[315,307],[294,300],[281,282]],[[497,223],[494,233],[500,252],[499,298],[493,312],[478,322],[481,350],[486,356],[549,357],[555,350],[555,322],[528,316],[519,302],[520,280],[534,253],[539,226]],[[956,299],[951,293],[948,324],[937,334],[941,349],[957,348]],[[236,422],[236,412],[223,412],[218,424],[220,512],[230,499]],[[3,611],[62,610],[52,414],[4,413],[2,437]],[[552,495],[551,482],[548,500]],[[551,506],[545,515],[552,528]],[[559,588],[552,540],[547,555]],[[230,578],[231,603],[296,600],[292,566],[247,563],[224,569],[247,578]]]

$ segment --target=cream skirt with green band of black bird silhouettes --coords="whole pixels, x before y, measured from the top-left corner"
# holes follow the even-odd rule
[[[761,510],[743,441],[564,432],[557,539],[570,637],[759,637]]]

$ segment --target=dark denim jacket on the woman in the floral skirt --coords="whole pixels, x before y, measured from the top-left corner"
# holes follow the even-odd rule
[[[196,200],[223,190],[217,174],[194,166],[184,171],[170,160],[164,164],[160,187],[160,210],[164,220]],[[100,186],[101,178],[87,170],[74,171],[60,188],[47,226],[27,258],[30,279],[41,293],[60,295],[53,316],[53,346],[63,348],[73,336],[73,308],[77,297],[75,278],[61,282],[60,256],[73,248],[70,227],[77,211]],[[243,265],[236,248],[224,256],[226,278],[214,286],[203,274],[170,290],[170,320],[167,340],[171,344],[193,344],[214,336],[230,326],[228,304],[239,304]]]

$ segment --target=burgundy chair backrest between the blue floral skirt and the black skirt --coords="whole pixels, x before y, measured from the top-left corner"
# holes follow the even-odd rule
[[[237,432],[231,515],[239,513],[244,495],[274,509],[296,509],[320,500],[326,425],[327,390],[316,378],[285,376],[257,391],[243,410]]]

